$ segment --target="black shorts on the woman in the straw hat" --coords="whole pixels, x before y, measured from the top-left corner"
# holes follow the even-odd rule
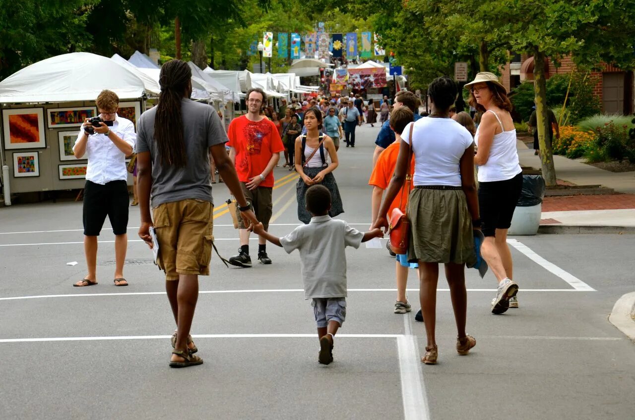
[[[479,182],[478,206],[483,235],[496,236],[497,229],[509,229],[523,188],[523,173],[511,180]]]

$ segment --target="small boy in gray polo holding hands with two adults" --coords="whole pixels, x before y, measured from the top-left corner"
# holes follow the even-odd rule
[[[331,194],[323,185],[313,185],[306,194],[311,223],[295,228],[278,238],[265,232],[262,223],[253,232],[291,253],[300,251],[300,268],[304,280],[304,298],[311,306],[318,323],[319,357],[321,364],[333,362],[333,338],[346,318],[346,255],[347,246],[359,248],[361,242],[383,237],[380,229],[359,232],[344,220],[331,219]]]

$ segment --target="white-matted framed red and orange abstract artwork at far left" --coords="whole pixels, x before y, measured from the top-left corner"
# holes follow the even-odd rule
[[[2,112],[4,149],[44,148],[44,109],[4,109]]]

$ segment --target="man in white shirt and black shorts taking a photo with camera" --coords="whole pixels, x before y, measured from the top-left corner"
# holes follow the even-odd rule
[[[102,122],[86,119],[75,141],[77,159],[88,159],[84,186],[84,254],[88,274],[73,284],[77,287],[97,284],[97,237],[106,216],[115,235],[114,284],[128,285],[123,265],[128,247],[128,171],[126,156],[131,155],[137,135],[132,121],[119,117],[119,97],[104,90],[97,96]],[[92,134],[91,134],[92,133]]]

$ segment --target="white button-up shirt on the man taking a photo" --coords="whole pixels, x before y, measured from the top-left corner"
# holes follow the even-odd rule
[[[77,145],[83,131],[84,129],[81,128],[75,145]],[[132,121],[115,115],[115,121],[110,127],[110,131],[131,145],[134,150],[137,134],[135,133],[135,124]],[[106,135],[95,132],[94,135],[88,136],[84,158],[88,159],[88,167],[86,168],[86,180],[88,181],[105,185],[110,181],[128,179],[126,155]]]

